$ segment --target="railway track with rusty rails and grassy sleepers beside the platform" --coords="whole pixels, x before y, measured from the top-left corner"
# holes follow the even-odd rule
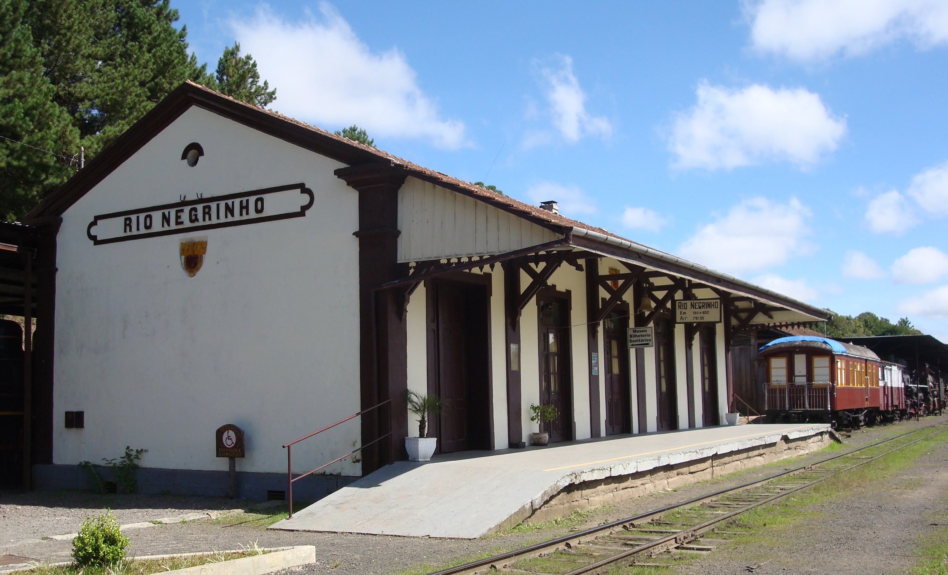
[[[743,534],[718,529],[741,513],[805,490],[946,430],[948,427],[944,423],[936,423],[682,503],[428,575],[498,572],[580,575],[605,573],[616,566],[670,566],[650,563],[648,559],[666,552],[672,557],[708,553],[727,543],[729,535]],[[908,437],[925,431],[931,433]],[[868,449],[893,442],[892,449],[882,454],[860,455]],[[528,559],[535,561],[530,565],[516,566]],[[568,570],[570,567],[574,568]]]

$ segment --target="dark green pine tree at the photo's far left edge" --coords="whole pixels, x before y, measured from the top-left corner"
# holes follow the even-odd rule
[[[0,216],[26,213],[72,174],[79,131],[54,102],[41,51],[24,21],[27,0],[0,0]]]

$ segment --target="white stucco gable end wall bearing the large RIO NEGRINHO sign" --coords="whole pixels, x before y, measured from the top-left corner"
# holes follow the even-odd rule
[[[196,141],[195,167],[181,152]],[[63,215],[58,237],[55,463],[148,449],[144,467],[226,470],[214,430],[246,432],[238,469],[285,472],[288,440],[359,408],[357,194],[343,164],[192,107]],[[304,182],[305,217],[93,245],[93,216]],[[188,277],[179,241],[208,238]],[[83,410],[85,429],[62,427]],[[344,454],[355,419],[294,450]],[[343,463],[330,471],[360,473]]]

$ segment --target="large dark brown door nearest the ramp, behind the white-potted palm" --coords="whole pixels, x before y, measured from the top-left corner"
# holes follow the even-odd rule
[[[467,322],[464,288],[456,284],[438,286],[438,391],[444,402],[438,417],[442,453],[468,449]]]

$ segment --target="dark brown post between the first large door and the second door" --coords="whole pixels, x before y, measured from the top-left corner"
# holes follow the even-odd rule
[[[503,302],[504,322],[503,332],[506,335],[507,356],[507,441],[509,447],[519,449],[526,447],[523,441],[523,419],[520,397],[520,309],[517,302],[520,299],[520,263],[517,260],[508,260],[501,264],[503,267]]]

